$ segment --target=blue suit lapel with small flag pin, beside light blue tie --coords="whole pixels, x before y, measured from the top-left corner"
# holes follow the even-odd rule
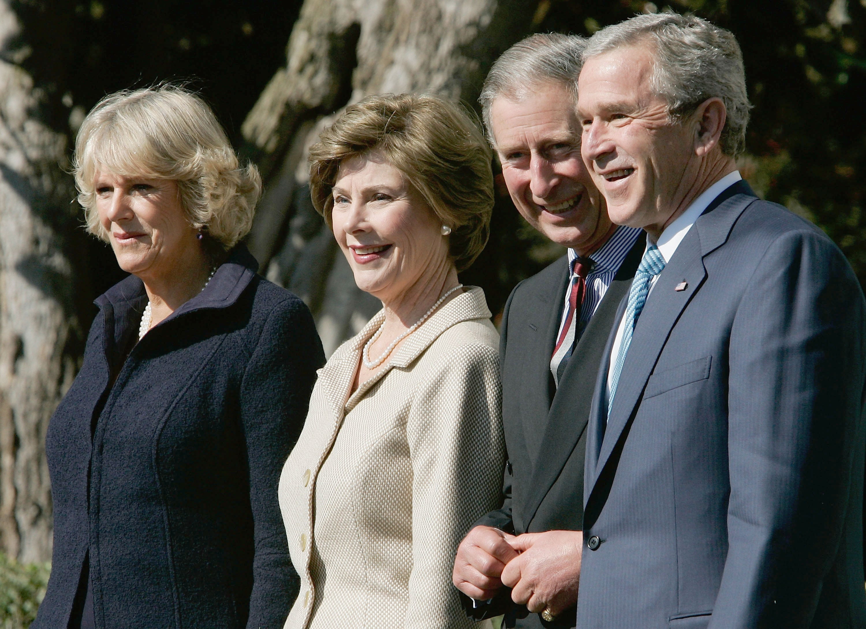
[[[635,333],[631,340],[628,357],[623,371],[619,376],[617,394],[613,399],[610,415],[606,418],[602,399],[604,398],[604,383],[607,371],[599,373],[591,418],[593,426],[589,436],[592,448],[588,444],[587,470],[592,464],[591,479],[587,478],[587,488],[594,486],[611,457],[611,452],[622,438],[625,427],[637,412],[637,405],[643,396],[643,389],[656,366],[656,362],[667,342],[670,331],[679,320],[682,310],[686,308],[695,293],[701,289],[707,277],[703,264],[704,256],[721,247],[734,228],[734,224],[749,204],[756,200],[754,193],[746,182],[738,182],[723,191],[701,217],[694,227],[682,239],[674,256],[658,276],[646,306],[637,320]],[[688,282],[685,290],[675,290],[680,282]],[[617,323],[622,316],[622,310],[617,316]],[[611,330],[606,360],[610,364],[610,345],[616,330]],[[592,434],[592,433],[595,434]],[[626,433],[627,434],[627,433]],[[603,437],[602,437],[603,435]],[[591,484],[590,484],[591,483]],[[584,496],[584,502],[589,502],[590,496]]]

